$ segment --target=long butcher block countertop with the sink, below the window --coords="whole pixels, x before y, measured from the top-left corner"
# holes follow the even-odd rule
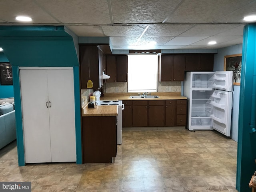
[[[138,93],[104,93],[104,97],[100,100],[178,100],[187,99],[180,95],[180,92],[153,92],[151,95],[159,96],[160,98],[130,98],[130,96],[137,96]]]

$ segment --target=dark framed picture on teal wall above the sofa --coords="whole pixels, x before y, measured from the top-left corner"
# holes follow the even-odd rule
[[[0,63],[0,84],[12,85],[12,66],[9,62]]]

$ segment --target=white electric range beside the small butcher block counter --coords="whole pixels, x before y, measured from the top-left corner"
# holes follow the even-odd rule
[[[95,96],[95,102],[98,103],[98,106],[117,105],[118,115],[116,116],[116,141],[118,145],[122,144],[122,110],[124,110],[124,104],[122,104],[121,100],[100,100],[99,91],[94,92],[93,96]]]

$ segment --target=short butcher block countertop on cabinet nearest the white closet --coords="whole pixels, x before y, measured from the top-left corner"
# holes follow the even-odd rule
[[[83,117],[93,117],[93,116],[117,116],[117,106],[98,106],[97,108],[88,108],[88,105],[82,107]]]

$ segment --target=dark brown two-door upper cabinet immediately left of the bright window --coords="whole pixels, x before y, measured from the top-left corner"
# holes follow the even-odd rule
[[[110,76],[107,82],[127,82],[128,56],[107,55],[106,74]]]

